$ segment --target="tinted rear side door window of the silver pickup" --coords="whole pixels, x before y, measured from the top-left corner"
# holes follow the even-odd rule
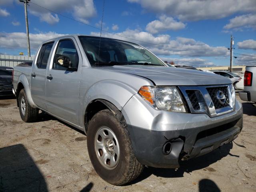
[[[41,50],[38,54],[38,60],[36,62],[36,66],[38,68],[46,69],[53,44],[54,42],[42,45]]]

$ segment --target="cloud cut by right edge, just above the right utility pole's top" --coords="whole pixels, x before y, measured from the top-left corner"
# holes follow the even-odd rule
[[[236,16],[229,20],[229,23],[224,26],[224,29],[239,29],[241,27],[256,28],[256,14],[247,14]]]

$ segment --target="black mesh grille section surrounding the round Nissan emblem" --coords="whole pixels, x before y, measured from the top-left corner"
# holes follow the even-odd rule
[[[206,89],[210,97],[212,98],[212,102],[214,104],[215,109],[220,109],[220,108],[229,106],[228,86],[208,87]],[[226,97],[226,99],[223,100],[224,101],[223,103],[220,102],[220,100],[217,98],[218,91],[223,92]]]

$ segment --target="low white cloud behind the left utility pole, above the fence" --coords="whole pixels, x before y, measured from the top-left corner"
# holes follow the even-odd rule
[[[32,50],[37,50],[39,45],[51,38],[56,38],[64,34],[58,34],[55,32],[47,33],[30,33],[30,48]],[[5,49],[17,49],[17,48],[27,48],[27,36],[26,33],[13,32],[13,33],[0,33],[0,48]]]

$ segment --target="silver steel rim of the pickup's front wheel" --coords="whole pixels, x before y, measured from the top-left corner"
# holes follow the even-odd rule
[[[120,147],[116,135],[110,128],[106,126],[98,128],[94,136],[94,149],[104,168],[108,170],[116,168],[120,159]]]

